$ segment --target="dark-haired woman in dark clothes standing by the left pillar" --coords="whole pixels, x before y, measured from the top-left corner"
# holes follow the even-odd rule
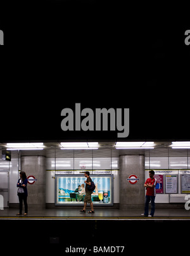
[[[22,202],[24,202],[25,205],[25,213],[23,215],[28,214],[28,204],[27,204],[27,196],[28,196],[28,191],[27,191],[27,176],[25,172],[20,172],[20,179],[18,179],[18,182],[16,186],[18,187],[18,198],[19,198],[19,208],[20,211],[16,215],[22,215]]]

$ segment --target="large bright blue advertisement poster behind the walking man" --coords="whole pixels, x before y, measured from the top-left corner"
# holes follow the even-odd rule
[[[92,203],[96,205],[113,205],[113,175],[91,175],[96,188],[92,192]],[[84,176],[55,177],[55,205],[81,205],[85,197]]]

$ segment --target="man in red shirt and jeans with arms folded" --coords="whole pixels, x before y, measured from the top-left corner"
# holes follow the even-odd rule
[[[156,179],[154,178],[155,172],[149,171],[149,178],[144,183],[146,188],[146,200],[144,205],[144,216],[153,217],[155,214],[155,196],[156,196]],[[151,202],[151,213],[148,215],[148,205]]]

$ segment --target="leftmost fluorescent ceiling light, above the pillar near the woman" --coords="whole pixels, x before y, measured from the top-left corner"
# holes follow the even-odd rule
[[[44,143],[7,143],[7,150],[43,150]]]

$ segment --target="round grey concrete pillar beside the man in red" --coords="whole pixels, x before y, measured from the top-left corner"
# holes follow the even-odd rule
[[[144,155],[120,156],[120,209],[144,208]],[[139,181],[130,184],[127,178],[135,174]]]

